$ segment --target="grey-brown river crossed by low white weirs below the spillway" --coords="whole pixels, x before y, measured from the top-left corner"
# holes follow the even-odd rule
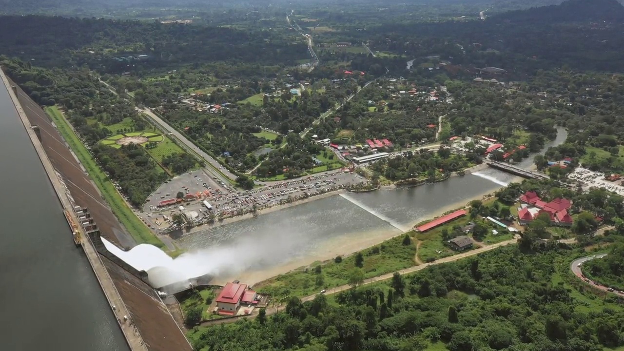
[[[566,137],[565,129],[558,129],[557,139],[549,142],[544,151],[561,144]],[[519,166],[529,167],[532,159],[533,156],[525,159]],[[245,273],[227,278],[240,277],[253,283],[315,260],[351,254],[377,244],[512,181],[519,178],[485,169],[409,189],[334,195],[256,219],[184,235],[179,243],[189,250],[223,247],[224,251],[239,255],[242,266],[238,269]]]

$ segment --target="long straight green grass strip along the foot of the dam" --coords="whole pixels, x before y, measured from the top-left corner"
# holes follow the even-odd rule
[[[152,244],[157,247],[163,248],[165,245],[145,226],[143,222],[137,217],[134,212],[128,207],[124,199],[121,197],[115,186],[106,177],[102,169],[95,163],[93,157],[89,154],[89,151],[80,142],[76,134],[71,129],[69,122],[66,121],[62,112],[57,109],[56,106],[46,107],[47,114],[52,118],[54,124],[56,124],[59,132],[69,144],[72,151],[76,154],[82,166],[87,169],[89,177],[94,181],[97,188],[102,193],[104,200],[109,204],[112,212],[117,216],[117,219],[128,230],[132,238],[136,240],[137,244]]]

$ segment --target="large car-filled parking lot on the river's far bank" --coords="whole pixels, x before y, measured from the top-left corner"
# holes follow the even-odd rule
[[[163,184],[145,202],[139,215],[150,228],[163,232],[171,228],[172,215],[176,213],[182,212],[194,225],[200,225],[217,217],[251,213],[364,181],[366,179],[358,174],[331,171],[245,191],[232,189],[200,170],[179,175]],[[178,192],[182,192],[184,200],[158,207],[159,202],[178,197]]]

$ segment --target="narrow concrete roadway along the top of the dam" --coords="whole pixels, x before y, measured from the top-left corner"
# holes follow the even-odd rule
[[[47,177],[50,180],[52,187],[54,188],[54,192],[56,192],[56,195],[59,201],[61,202],[63,209],[69,212],[69,214],[72,217],[72,220],[74,220],[75,223],[79,223],[79,219],[76,217],[74,209],[72,208],[71,201],[69,200],[67,193],[64,191],[61,185],[61,180],[59,180],[58,176],[56,175],[56,172],[54,171],[54,167],[52,167],[52,163],[50,159],[47,157],[47,154],[44,151],[41,141],[39,141],[39,138],[37,137],[35,130],[31,126],[31,123],[28,121],[26,114],[24,113],[24,109],[22,109],[22,106],[17,99],[16,92],[12,89],[12,86],[9,83],[6,75],[4,74],[4,71],[2,71],[1,67],[0,67],[0,77],[2,79],[2,84],[9,92],[9,96],[11,97],[11,100],[17,111],[17,114],[19,118],[21,119],[22,124],[24,124],[24,128],[26,129],[26,132],[29,138],[31,139],[32,145],[34,146],[34,149],[37,152],[37,156],[39,156],[39,159],[41,160],[41,163],[44,166],[44,169],[46,170]],[[104,267],[104,263],[100,259],[99,254],[97,254],[97,251],[95,250],[93,244],[91,243],[88,235],[86,235],[80,227],[79,227],[79,230],[80,230],[80,236],[82,237],[82,240],[81,240],[82,248],[84,249],[84,252],[87,255],[87,259],[89,259],[89,264],[91,265],[94,271],[95,277],[97,277],[100,287],[102,287],[102,290],[104,291],[104,295],[109,302],[109,305],[111,307],[113,314],[117,316],[130,315],[125,306],[124,301],[121,299],[119,292],[115,288],[115,285],[112,279],[110,278],[108,271]],[[67,240],[71,240],[71,231],[68,232],[67,234]],[[138,332],[135,332],[134,328],[132,327],[132,325],[130,325],[129,321],[125,321],[123,318],[119,318],[119,317],[117,318],[117,320],[119,322],[120,329],[124,333],[124,337],[130,347],[130,350],[147,351],[147,347],[145,346],[145,343],[142,337],[140,336]]]

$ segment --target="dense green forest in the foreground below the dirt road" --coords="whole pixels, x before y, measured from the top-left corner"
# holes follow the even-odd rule
[[[395,275],[285,312],[193,329],[202,350],[603,350],[623,345],[622,308],[569,273],[569,247],[523,254],[505,247],[477,258]]]

